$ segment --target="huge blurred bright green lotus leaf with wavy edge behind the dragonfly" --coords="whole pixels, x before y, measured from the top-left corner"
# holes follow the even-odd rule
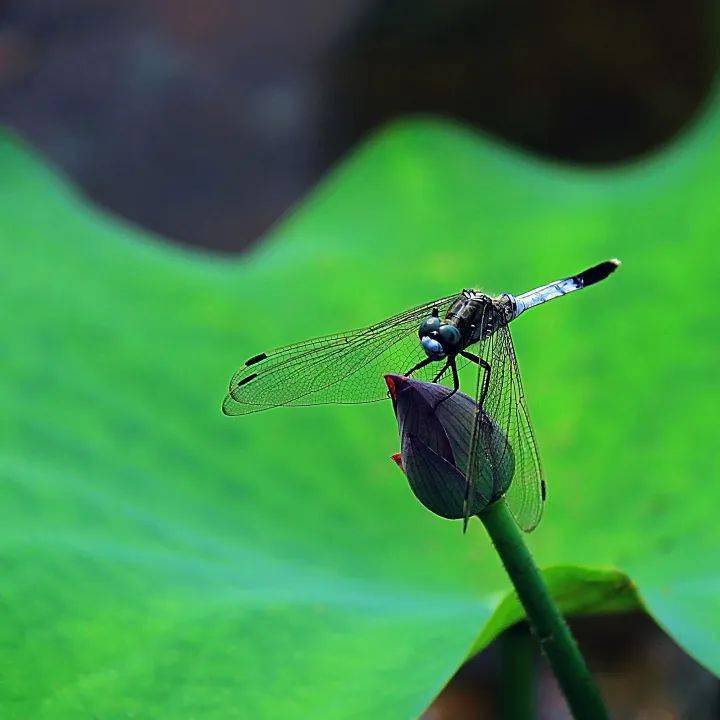
[[[92,210],[12,137],[0,168],[3,717],[417,716],[519,617],[480,524],[415,502],[389,403],[227,418],[227,380],[612,256],[514,324],[549,483],[530,544],[566,610],[642,602],[720,672],[717,102],[601,172],[396,125],[241,259]]]

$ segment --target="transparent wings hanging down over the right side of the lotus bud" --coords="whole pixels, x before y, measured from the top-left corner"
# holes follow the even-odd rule
[[[517,524],[530,532],[542,516],[545,480],[510,329],[507,326],[500,328],[479,347],[480,357],[490,365],[490,380],[480,408],[485,370],[478,368],[478,412],[473,425],[474,437],[468,461],[468,477],[478,477],[478,463],[487,463],[491,472],[496,475],[496,488],[500,487],[504,491],[507,480],[501,475],[508,467],[509,459],[506,453],[512,453],[514,470],[505,498]],[[507,438],[506,443],[498,442],[498,435],[495,434],[497,429]],[[467,494],[467,507],[472,507],[472,486],[468,487]],[[465,522],[467,523],[467,518]]]

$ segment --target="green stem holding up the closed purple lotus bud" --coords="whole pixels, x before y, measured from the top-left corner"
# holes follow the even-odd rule
[[[550,597],[505,500],[488,505],[478,517],[515,586],[528,623],[550,663],[573,717],[576,720],[608,720],[600,691],[570,628]]]

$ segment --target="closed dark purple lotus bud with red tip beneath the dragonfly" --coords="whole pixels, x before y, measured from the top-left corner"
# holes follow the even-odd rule
[[[428,510],[451,520],[462,518],[475,401],[461,392],[451,395],[443,385],[402,375],[386,375],[385,382],[400,430],[400,452],[393,460]],[[477,442],[470,515],[501,497],[515,470],[507,437],[487,413]]]

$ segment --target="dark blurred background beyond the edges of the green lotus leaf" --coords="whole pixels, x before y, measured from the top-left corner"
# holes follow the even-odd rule
[[[0,122],[113,212],[182,243],[242,251],[371,129],[408,114],[462,120],[564,162],[652,152],[708,94],[715,7],[0,2]],[[720,717],[717,680],[647,617],[574,628],[614,717]],[[519,685],[503,683],[508,666]],[[522,700],[523,677],[539,717],[566,717],[519,626],[426,718],[518,717],[507,703]]]

